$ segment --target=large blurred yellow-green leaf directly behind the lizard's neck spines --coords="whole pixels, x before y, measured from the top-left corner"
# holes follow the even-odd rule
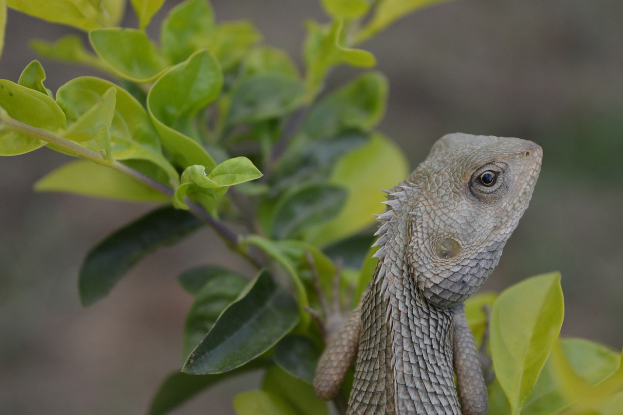
[[[385,195],[408,174],[404,153],[388,138],[374,133],[369,142],[343,156],[329,182],[348,190],[348,199],[340,214],[313,229],[307,240],[324,246],[363,231],[374,222],[374,214],[384,211]]]

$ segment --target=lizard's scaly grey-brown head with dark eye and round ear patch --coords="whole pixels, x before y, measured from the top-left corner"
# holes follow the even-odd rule
[[[543,150],[519,138],[442,137],[407,178],[407,257],[422,295],[464,302],[498,264],[535,188]]]

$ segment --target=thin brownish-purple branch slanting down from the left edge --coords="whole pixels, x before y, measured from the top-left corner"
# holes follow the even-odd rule
[[[145,186],[148,186],[149,188],[164,194],[168,198],[173,198],[175,194],[174,189],[169,188],[168,186],[160,183],[159,181],[152,179],[149,176],[141,173],[140,171],[128,167],[117,160],[113,160],[110,157],[105,158],[102,154],[97,153],[96,151],[89,150],[88,148],[78,145],[73,141],[65,140],[64,138],[55,136],[54,134],[48,133],[47,131],[40,130],[39,128],[36,128],[34,126],[17,121],[14,118],[9,117],[9,115],[7,115],[6,113],[0,112],[0,130],[2,130],[3,128],[17,131],[19,133],[32,136],[34,138],[38,138],[39,140],[45,141],[46,143],[50,143],[59,148],[62,148],[69,153],[73,153],[78,158],[85,158],[87,160],[94,161],[98,165],[113,168],[120,173],[127,174],[136,181],[145,184]],[[199,204],[194,203],[193,201],[187,200],[186,204],[188,204],[189,211],[191,211],[194,216],[206,222],[208,226],[212,227],[212,229],[214,229],[214,231],[219,234],[223,241],[225,241],[229,248],[239,252],[239,254],[245,257],[245,259],[249,260],[249,262],[254,265],[254,267],[258,269],[262,268],[262,261],[255,259],[252,255],[246,252],[240,244],[240,238],[231,229],[225,226],[223,222],[218,221],[217,219],[212,217],[208,212],[206,212],[205,209],[203,209],[203,207],[199,206]]]

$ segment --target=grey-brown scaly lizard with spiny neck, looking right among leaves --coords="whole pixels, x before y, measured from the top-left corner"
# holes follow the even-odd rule
[[[487,413],[463,302],[498,264],[542,158],[532,141],[449,134],[387,192],[378,264],[326,338],[313,381],[320,398],[336,396],[356,357],[348,414]]]

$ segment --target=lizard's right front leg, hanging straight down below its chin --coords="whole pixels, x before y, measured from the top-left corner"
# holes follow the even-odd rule
[[[473,341],[472,330],[467,325],[465,308],[454,308],[452,350],[454,370],[459,385],[463,415],[485,415],[488,409],[487,386],[480,368],[480,356]]]

